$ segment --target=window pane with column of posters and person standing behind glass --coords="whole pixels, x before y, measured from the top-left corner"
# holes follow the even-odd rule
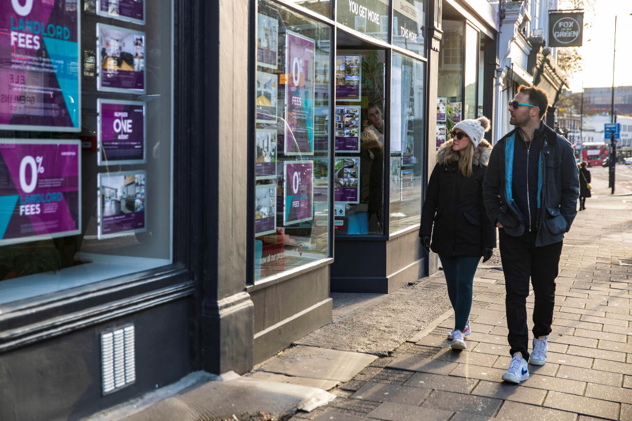
[[[384,50],[336,52],[336,235],[383,234]]]

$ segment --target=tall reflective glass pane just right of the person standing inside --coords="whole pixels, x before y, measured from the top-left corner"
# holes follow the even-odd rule
[[[393,53],[391,67],[390,232],[420,221],[424,145],[424,64]]]

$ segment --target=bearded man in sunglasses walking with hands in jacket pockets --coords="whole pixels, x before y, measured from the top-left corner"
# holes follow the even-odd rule
[[[487,215],[499,228],[505,276],[512,359],[502,379],[513,383],[529,378],[527,361],[546,362],[562,239],[577,213],[573,146],[542,122],[548,103],[543,90],[518,87],[509,103],[509,123],[516,128],[494,145],[483,181]],[[526,326],[529,278],[535,294],[531,355]]]

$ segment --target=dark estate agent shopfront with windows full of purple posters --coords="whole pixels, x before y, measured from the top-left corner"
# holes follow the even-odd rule
[[[0,419],[247,372],[330,292],[436,270],[424,188],[494,117],[497,2],[0,4]]]

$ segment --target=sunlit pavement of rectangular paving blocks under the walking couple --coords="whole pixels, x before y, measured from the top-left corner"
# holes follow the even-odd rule
[[[291,419],[632,420],[632,197],[607,195],[603,181],[593,186],[603,196],[587,200],[564,242],[547,363],[529,365],[527,381],[501,380],[509,364],[504,278],[479,269],[467,351],[449,348],[446,312],[332,389],[336,400]],[[427,287],[443,283],[440,272]]]

